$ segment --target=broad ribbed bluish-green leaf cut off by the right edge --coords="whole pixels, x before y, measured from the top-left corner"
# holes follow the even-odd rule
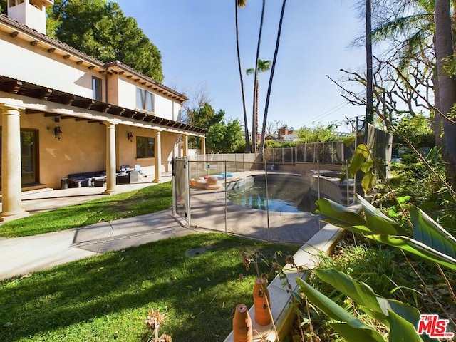
[[[410,206],[413,239],[456,259],[456,239],[418,207]]]

